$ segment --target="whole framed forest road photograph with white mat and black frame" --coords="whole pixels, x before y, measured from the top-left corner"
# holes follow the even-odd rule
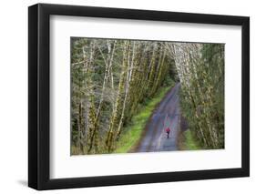
[[[250,18],[28,8],[28,186],[250,174]]]

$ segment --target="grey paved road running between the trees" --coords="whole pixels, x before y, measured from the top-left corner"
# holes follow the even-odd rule
[[[150,119],[146,133],[141,138],[136,152],[173,151],[177,150],[179,125],[179,87],[176,84],[162,99]],[[165,128],[170,128],[167,138]]]

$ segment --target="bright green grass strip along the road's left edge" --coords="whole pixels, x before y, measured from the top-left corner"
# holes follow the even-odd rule
[[[117,148],[114,153],[127,153],[131,148],[136,146],[152,111],[169,92],[169,89],[174,86],[175,83],[173,82],[169,87],[160,88],[159,93],[151,98],[144,107],[140,108],[138,114],[132,118],[130,125],[127,128],[124,128],[124,132],[118,140]]]

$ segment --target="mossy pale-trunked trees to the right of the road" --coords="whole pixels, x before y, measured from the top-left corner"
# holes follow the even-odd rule
[[[181,82],[180,104],[202,148],[224,148],[224,45],[171,46]]]

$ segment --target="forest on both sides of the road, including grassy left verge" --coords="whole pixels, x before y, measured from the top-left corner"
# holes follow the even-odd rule
[[[115,153],[126,143],[120,152],[136,150],[177,83],[193,141],[224,148],[223,44],[85,37],[70,44],[71,155]]]

